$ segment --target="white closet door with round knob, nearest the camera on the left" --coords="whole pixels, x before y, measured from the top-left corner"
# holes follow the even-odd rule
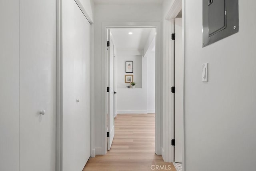
[[[41,2],[20,0],[20,171],[55,171],[56,2]]]

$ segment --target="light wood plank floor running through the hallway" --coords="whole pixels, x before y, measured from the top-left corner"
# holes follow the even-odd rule
[[[115,136],[106,155],[90,158],[83,171],[151,171],[158,165],[176,171],[155,154],[155,115],[123,114],[115,118]]]

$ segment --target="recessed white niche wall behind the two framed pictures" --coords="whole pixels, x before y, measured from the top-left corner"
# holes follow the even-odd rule
[[[117,52],[117,54],[119,54]],[[125,62],[133,61],[133,73],[125,72]],[[125,75],[133,75],[133,81],[136,88],[142,88],[142,56],[120,54],[116,55],[116,82],[117,88],[127,88],[130,83],[125,83]]]

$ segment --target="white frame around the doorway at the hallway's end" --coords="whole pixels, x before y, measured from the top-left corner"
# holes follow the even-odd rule
[[[107,153],[106,136],[106,34],[109,28],[156,28],[156,154],[161,155],[161,23],[160,22],[110,22],[102,23],[102,154]]]

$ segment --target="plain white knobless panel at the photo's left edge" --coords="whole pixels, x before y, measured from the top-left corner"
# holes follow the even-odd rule
[[[19,170],[19,0],[0,1],[0,170]]]

